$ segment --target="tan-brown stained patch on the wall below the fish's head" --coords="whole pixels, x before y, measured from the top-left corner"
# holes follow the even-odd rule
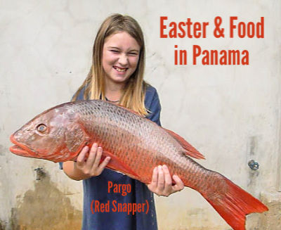
[[[71,205],[70,198],[56,188],[46,172],[41,172],[34,187],[20,196],[11,210],[12,230],[81,229],[82,212]]]

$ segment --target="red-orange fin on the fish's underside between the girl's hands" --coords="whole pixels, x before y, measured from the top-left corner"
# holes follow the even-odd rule
[[[129,177],[132,177],[133,179],[140,179],[140,177],[138,176],[138,174],[136,174],[136,172],[133,172],[133,170],[131,170],[131,168],[124,164],[123,162],[121,162],[119,160],[119,158],[117,158],[117,156],[113,155],[112,153],[103,150],[103,158],[106,157],[110,157],[110,162],[108,162],[107,164],[107,168],[109,168],[110,170],[115,170],[118,172],[122,172],[126,175],[128,175]]]

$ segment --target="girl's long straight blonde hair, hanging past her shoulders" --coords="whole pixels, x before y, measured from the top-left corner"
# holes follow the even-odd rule
[[[81,87],[79,87],[74,94],[72,101],[76,101],[77,96],[83,88],[85,88],[84,99],[105,99],[105,72],[102,65],[103,45],[107,37],[118,32],[127,32],[131,37],[136,39],[138,45],[141,47],[138,66],[126,82],[119,104],[135,110],[141,115],[147,115],[148,112],[145,109],[144,101],[145,89],[148,84],[143,80],[145,69],[145,41],[143,39],[141,27],[136,20],[128,15],[111,15],[106,18],[100,26],[93,44],[93,63],[91,69]]]

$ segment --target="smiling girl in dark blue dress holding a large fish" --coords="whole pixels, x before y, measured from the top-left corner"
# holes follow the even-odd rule
[[[143,32],[136,20],[129,16],[115,14],[108,17],[96,36],[93,45],[93,64],[84,83],[74,94],[72,101],[85,99],[102,99],[126,106],[160,125],[160,103],[155,88],[143,80],[145,66],[145,44]],[[85,155],[89,157],[85,160]],[[115,229],[157,229],[153,193],[169,196],[181,191],[183,182],[176,175],[172,179],[166,165],[155,167],[152,182],[148,186],[119,172],[105,169],[110,158],[99,164],[103,149],[94,143],[89,150],[85,146],[77,162],[63,163],[63,170],[68,177],[83,179],[84,185],[84,230]],[[109,191],[108,183],[115,185],[129,184],[131,191],[114,193]],[[114,212],[112,206],[107,212],[91,212],[92,201],[99,203],[146,203],[149,211]],[[147,201],[146,201],[147,200]]]

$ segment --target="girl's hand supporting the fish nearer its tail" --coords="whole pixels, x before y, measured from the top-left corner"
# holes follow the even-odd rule
[[[148,184],[148,189],[158,196],[169,196],[171,193],[183,190],[183,181],[177,175],[173,175],[173,179],[176,182],[175,185],[172,185],[168,167],[159,165],[153,170],[152,181],[151,184]]]

